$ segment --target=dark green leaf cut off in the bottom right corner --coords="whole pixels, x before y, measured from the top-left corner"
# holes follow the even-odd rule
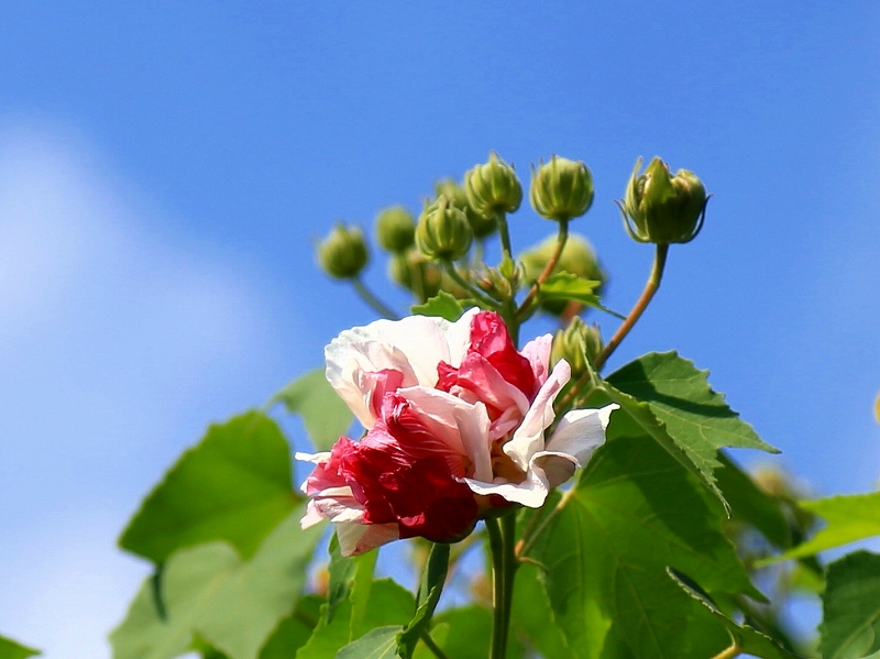
[[[855,551],[828,565],[822,596],[824,659],[856,659],[880,650],[880,556]]]

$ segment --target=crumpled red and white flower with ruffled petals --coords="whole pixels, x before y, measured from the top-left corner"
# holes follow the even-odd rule
[[[316,465],[304,528],[331,520],[353,556],[398,538],[453,542],[493,508],[541,506],[605,441],[616,407],[570,411],[546,440],[571,377],[564,360],[549,371],[550,347],[546,334],[518,351],[501,317],[476,309],[342,332],[327,377],[366,435],[297,453]]]

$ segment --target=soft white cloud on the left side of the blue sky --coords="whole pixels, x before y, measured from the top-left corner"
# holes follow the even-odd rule
[[[280,343],[260,282],[156,220],[88,145],[0,130],[0,634],[109,656],[128,515]]]

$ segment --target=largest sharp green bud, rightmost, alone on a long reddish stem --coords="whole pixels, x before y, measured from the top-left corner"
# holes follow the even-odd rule
[[[693,172],[669,166],[656,157],[645,174],[641,158],[629,177],[626,196],[618,201],[627,233],[638,242],[669,244],[690,242],[703,228],[708,196]]]

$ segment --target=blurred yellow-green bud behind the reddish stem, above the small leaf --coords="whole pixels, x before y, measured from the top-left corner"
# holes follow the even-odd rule
[[[535,283],[550,261],[556,248],[557,238],[551,237],[520,254],[519,261],[522,266],[522,278],[526,282],[529,284]],[[569,234],[565,246],[562,248],[562,254],[559,255],[559,261],[557,261],[557,266],[550,274],[554,275],[561,272],[572,274],[582,279],[602,282],[596,287],[597,294],[602,293],[607,278],[604,268],[600,265],[593,245],[591,245],[590,241],[583,235],[578,233]],[[544,300],[541,303],[541,308],[553,316],[561,316],[566,306],[568,304],[563,300]]]

